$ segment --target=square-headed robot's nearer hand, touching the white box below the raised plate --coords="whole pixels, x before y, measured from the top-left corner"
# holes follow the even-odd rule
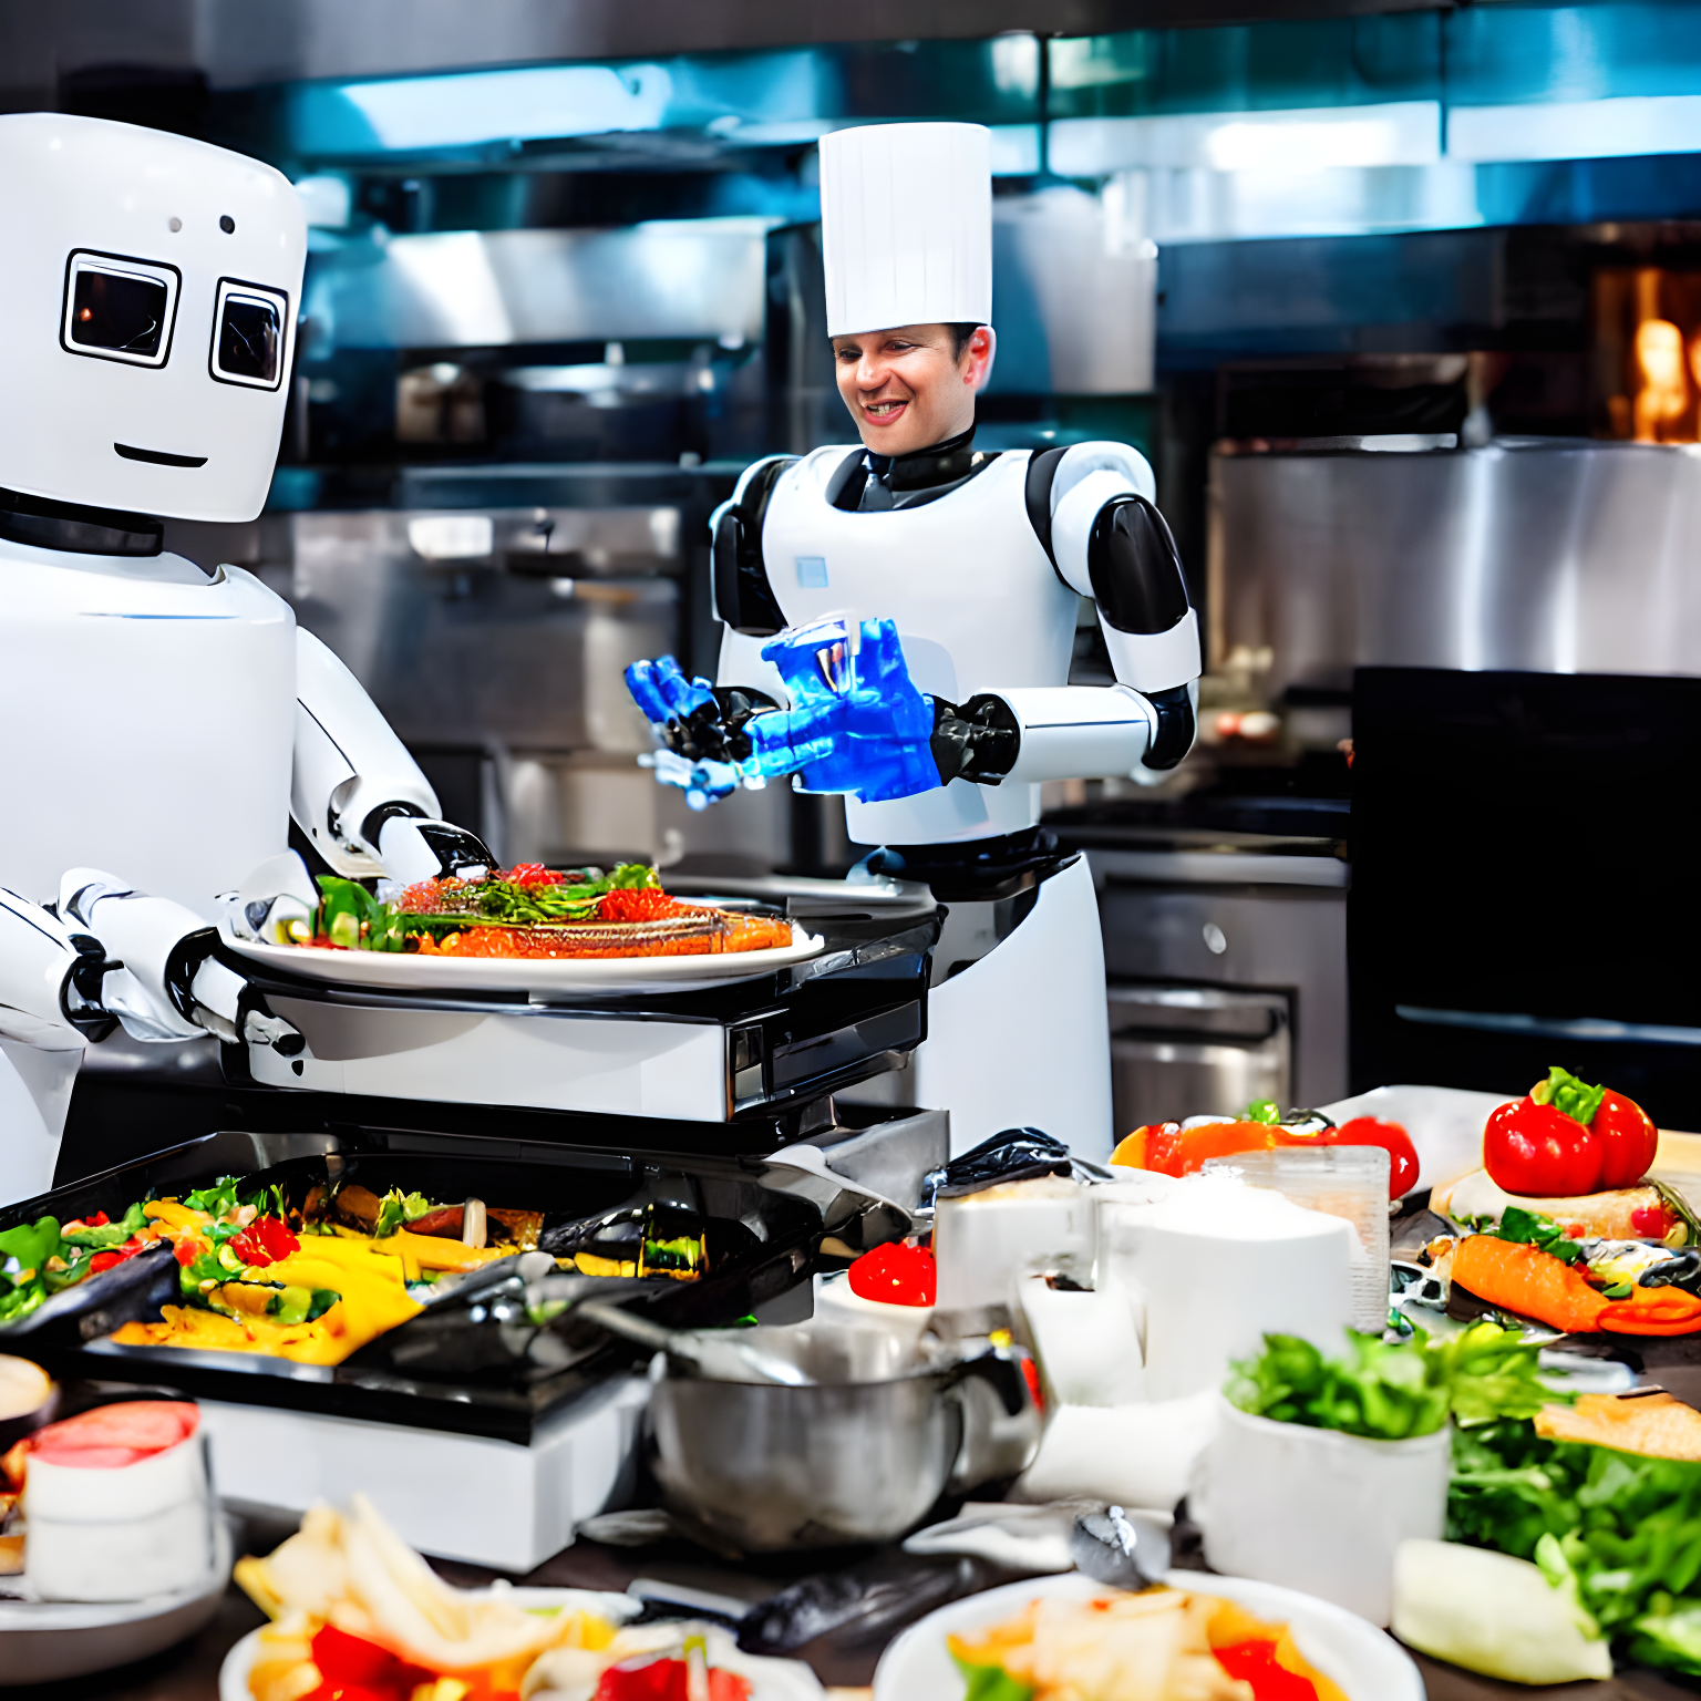
[[[260,1041],[284,1056],[306,1044],[213,954],[218,932],[170,898],[73,868],[60,881],[60,924],[82,958],[66,978],[65,1009],[90,1038],[104,1038],[116,1017],[131,1039],[216,1034],[231,1044]],[[94,1034],[90,1024],[100,1021],[105,1027]]]

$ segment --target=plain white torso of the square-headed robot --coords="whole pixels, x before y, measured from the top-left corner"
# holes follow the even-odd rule
[[[287,837],[287,604],[248,575],[5,566],[0,885],[44,900],[100,868],[211,913]]]

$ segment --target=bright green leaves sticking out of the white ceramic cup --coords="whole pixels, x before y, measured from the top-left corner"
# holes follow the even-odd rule
[[[1266,1335],[1257,1357],[1232,1366],[1225,1391],[1254,1417],[1405,1441],[1449,1417],[1463,1427],[1534,1417],[1556,1398],[1539,1380],[1538,1352],[1487,1320],[1439,1340],[1420,1328],[1400,1342],[1347,1330],[1340,1359],[1296,1335]]]

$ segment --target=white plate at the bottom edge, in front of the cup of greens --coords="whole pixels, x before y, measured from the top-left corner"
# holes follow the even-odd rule
[[[1225,1596],[1257,1618],[1289,1624],[1300,1652],[1345,1691],[1347,1701],[1424,1701],[1424,1679],[1405,1648],[1344,1607],[1243,1577],[1170,1572],[1165,1582],[1192,1594]],[[1102,1584],[1067,1572],[953,1601],[912,1624],[881,1655],[874,1701],[961,1701],[966,1686],[946,1648],[947,1635],[990,1630],[1039,1596],[1087,1599],[1104,1592]]]

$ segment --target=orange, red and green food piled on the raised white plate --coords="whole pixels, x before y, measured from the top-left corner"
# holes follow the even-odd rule
[[[793,942],[791,924],[668,896],[653,868],[548,869],[522,862],[480,879],[424,879],[378,898],[321,874],[311,920],[286,924],[281,944],[320,951],[403,951],[463,958],[646,958],[767,951]]]

